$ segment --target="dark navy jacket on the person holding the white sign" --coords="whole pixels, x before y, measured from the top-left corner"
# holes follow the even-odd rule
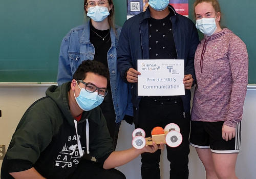
[[[173,24],[173,35],[175,47],[177,51],[177,59],[184,59],[185,62],[185,75],[191,74],[195,84],[195,69],[194,57],[195,51],[199,43],[199,36],[193,21],[176,13],[175,9],[169,5],[169,10],[174,11],[175,15],[170,18]],[[147,8],[142,12],[125,21],[122,32],[119,38],[119,46],[117,49],[117,68],[124,78],[124,74],[130,68],[137,70],[137,59],[150,59],[149,40],[148,40],[148,18],[150,18],[150,11]],[[136,40],[135,40],[136,39]],[[133,105],[138,107],[141,96],[138,96],[137,83],[132,84]],[[191,94],[189,89],[185,89],[185,95],[181,96],[183,101],[184,113],[190,112],[190,99]],[[136,120],[137,116],[135,116]]]

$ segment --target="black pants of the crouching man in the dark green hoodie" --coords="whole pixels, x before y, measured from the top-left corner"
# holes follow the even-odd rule
[[[81,160],[76,170],[67,179],[125,179],[122,172],[116,169],[105,170],[99,163],[90,160]]]

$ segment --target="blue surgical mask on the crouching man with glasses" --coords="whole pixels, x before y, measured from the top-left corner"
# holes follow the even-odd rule
[[[80,94],[78,97],[76,97],[75,91],[74,91],[74,96],[75,96],[78,106],[82,110],[86,110],[86,111],[92,110],[95,107],[99,106],[103,102],[104,97],[99,96],[98,92],[90,93],[90,92],[87,92],[86,89],[81,88],[79,85],[78,85],[78,87],[81,89]]]

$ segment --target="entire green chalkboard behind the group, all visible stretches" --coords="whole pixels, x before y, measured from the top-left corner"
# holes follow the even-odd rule
[[[115,23],[126,20],[126,0],[113,0]],[[138,0],[139,1],[139,0]],[[193,3],[189,0],[189,18]],[[256,84],[256,1],[220,0],[222,25],[237,34],[249,54],[250,84]],[[83,0],[1,0],[0,82],[56,82],[60,43],[84,22]],[[200,34],[202,37],[202,34]]]

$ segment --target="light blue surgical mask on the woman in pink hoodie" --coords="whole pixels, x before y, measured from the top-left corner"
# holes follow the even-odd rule
[[[204,35],[211,36],[217,29],[215,18],[201,18],[196,20],[196,27]]]

